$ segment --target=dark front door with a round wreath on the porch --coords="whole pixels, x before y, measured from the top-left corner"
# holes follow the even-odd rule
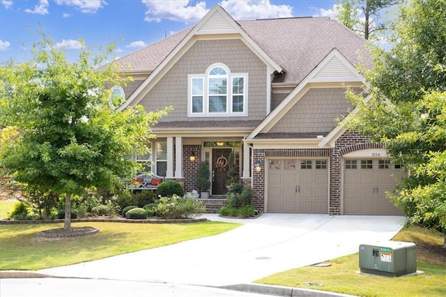
[[[226,195],[226,181],[228,176],[228,157],[231,153],[231,148],[214,148],[212,150],[212,194]]]

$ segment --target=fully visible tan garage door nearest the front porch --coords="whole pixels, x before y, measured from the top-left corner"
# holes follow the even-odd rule
[[[328,160],[269,160],[267,211],[328,213]]]

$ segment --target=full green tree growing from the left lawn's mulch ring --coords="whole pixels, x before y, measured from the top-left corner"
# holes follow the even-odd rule
[[[71,63],[42,34],[31,61],[0,66],[0,168],[25,187],[65,197],[64,229],[71,229],[71,197],[86,188],[111,188],[148,151],[151,126],[167,111],[142,107],[117,112],[109,86],[123,82],[114,63],[82,50]],[[108,86],[108,87],[107,87]]]

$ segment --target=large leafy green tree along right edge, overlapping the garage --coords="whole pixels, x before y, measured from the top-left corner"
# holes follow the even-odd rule
[[[376,48],[367,98],[351,98],[352,128],[406,165],[399,196],[412,222],[438,229],[446,244],[446,1],[410,1],[393,23],[392,48]]]

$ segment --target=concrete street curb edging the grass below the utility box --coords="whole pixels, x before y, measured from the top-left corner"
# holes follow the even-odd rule
[[[295,287],[272,286],[269,284],[230,284],[229,286],[220,287],[233,291],[243,291],[247,293],[290,296],[290,297],[354,297],[353,295],[339,294],[330,291],[318,291],[314,289],[302,289]]]

